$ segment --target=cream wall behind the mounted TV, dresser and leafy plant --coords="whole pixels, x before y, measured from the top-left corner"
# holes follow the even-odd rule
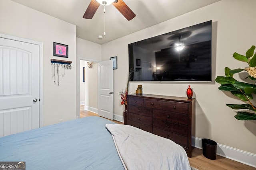
[[[233,59],[232,55],[234,52],[245,54],[247,49],[256,45],[255,6],[255,0],[222,0],[102,45],[102,60],[118,56],[118,70],[114,70],[114,113],[122,115],[124,110],[118,92],[126,87],[129,43],[212,20],[212,73],[215,79],[218,75],[224,76],[226,66],[232,69],[246,66]],[[241,104],[241,101],[218,90],[220,84],[215,81],[130,82],[130,93],[135,93],[138,84],[142,84],[145,94],[180,97],[186,97],[186,89],[191,85],[196,98],[196,137],[256,154],[256,121],[236,120],[236,111],[226,104]]]

